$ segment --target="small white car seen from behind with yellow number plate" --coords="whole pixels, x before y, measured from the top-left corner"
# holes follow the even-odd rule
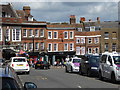
[[[10,60],[10,66],[15,70],[15,72],[26,72],[29,74],[30,67],[26,57],[12,57]]]

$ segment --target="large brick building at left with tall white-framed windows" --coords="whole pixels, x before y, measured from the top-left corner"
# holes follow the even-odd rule
[[[45,42],[46,22],[36,21],[30,13],[29,6],[24,6],[23,10],[14,10],[11,4],[0,5],[0,7],[2,8],[1,46],[44,52],[45,49],[40,47],[43,47]]]

